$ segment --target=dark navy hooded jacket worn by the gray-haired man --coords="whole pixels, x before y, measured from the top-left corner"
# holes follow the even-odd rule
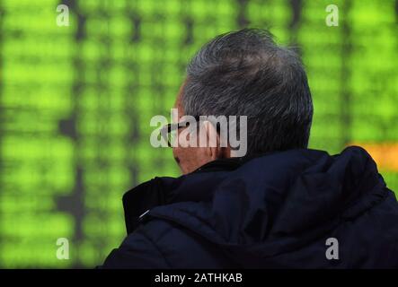
[[[104,268],[398,267],[398,204],[359,147],[213,161],[123,204],[128,237]]]

